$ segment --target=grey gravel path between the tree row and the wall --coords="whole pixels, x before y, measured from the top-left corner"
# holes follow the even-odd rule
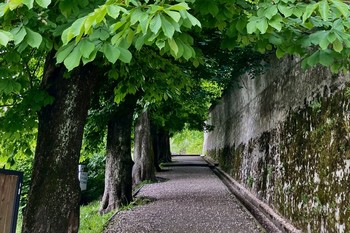
[[[173,160],[177,166],[157,174],[165,182],[145,185],[138,194],[154,201],[119,212],[105,233],[265,232],[201,157]]]

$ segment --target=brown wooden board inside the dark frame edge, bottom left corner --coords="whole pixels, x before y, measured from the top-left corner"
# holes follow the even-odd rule
[[[0,233],[10,233],[16,202],[18,176],[0,174]]]

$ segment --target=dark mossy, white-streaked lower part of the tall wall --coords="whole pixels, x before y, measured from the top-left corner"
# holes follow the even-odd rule
[[[350,88],[207,155],[304,232],[350,232]]]

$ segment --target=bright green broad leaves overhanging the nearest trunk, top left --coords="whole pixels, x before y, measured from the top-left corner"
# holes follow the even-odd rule
[[[98,6],[94,1],[77,2],[1,3],[0,16],[8,24],[0,30],[0,44],[14,45],[19,52],[27,46],[47,50],[54,46],[57,63],[64,63],[68,70],[95,60],[98,52],[111,63],[129,63],[131,45],[140,50],[154,44],[162,53],[186,60],[195,56],[185,31],[201,24],[188,12],[185,1],[107,0],[97,1]],[[21,20],[14,23],[15,17]]]

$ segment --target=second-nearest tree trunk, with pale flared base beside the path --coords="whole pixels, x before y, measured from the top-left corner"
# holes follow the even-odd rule
[[[108,122],[105,190],[100,213],[132,201],[131,128],[137,97],[127,96]]]

